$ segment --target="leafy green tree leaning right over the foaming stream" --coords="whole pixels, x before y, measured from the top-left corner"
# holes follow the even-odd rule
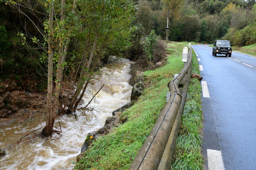
[[[135,6],[128,0],[105,1],[103,4],[100,0],[93,3],[84,1],[80,5],[83,29],[79,32],[79,36],[84,37],[80,39],[81,48],[84,50],[81,50],[83,51],[81,63],[74,78],[78,80],[76,92],[67,104],[68,113],[75,113],[88,84],[95,76],[96,66],[103,59],[108,58],[106,55],[117,55],[130,47],[130,27],[135,13]],[[64,103],[66,104],[67,101]],[[88,104],[86,107],[89,106]],[[93,108],[83,108],[83,110],[92,111]]]

